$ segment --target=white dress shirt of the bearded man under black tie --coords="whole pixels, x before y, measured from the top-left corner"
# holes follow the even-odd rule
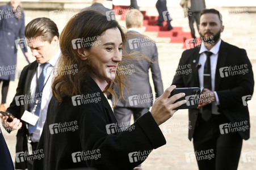
[[[208,50],[204,43],[202,42],[200,51],[199,51],[199,61],[198,63],[201,64],[201,67],[198,69],[198,75],[199,75],[199,83],[200,83],[200,87],[204,87],[204,63],[206,61],[206,54],[204,52],[212,52],[212,56],[210,57],[211,60],[211,79],[212,79],[212,89],[210,89],[211,91],[214,92],[215,96],[216,96],[216,101],[214,103],[212,103],[212,114],[220,114],[218,112],[218,107],[217,105],[219,105],[219,97],[215,91],[215,75],[216,75],[216,66],[217,66],[217,60],[218,60],[218,56],[219,56],[219,50],[220,50],[220,44],[221,44],[221,40],[219,42],[217,42],[217,44],[215,46],[213,46],[213,48],[211,50]],[[217,70],[219,71],[219,70]]]

